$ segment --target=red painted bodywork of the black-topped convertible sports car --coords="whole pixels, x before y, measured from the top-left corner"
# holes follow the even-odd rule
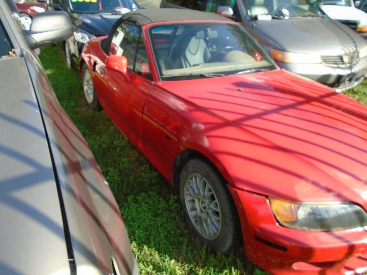
[[[196,150],[210,159],[236,202],[246,254],[265,270],[363,271],[363,228],[286,228],[276,222],[267,196],[348,201],[366,210],[367,107],[285,70],[158,81],[148,27],[143,34],[154,81],[133,72],[130,83],[116,72],[101,74],[98,66],[105,67],[107,58],[103,38],[91,40],[81,55],[101,105],[121,130],[171,183],[181,151]]]

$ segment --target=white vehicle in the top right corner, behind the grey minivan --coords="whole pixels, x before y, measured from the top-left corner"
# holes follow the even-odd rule
[[[352,0],[318,0],[317,2],[328,17],[338,20],[367,38],[367,14],[357,9]]]

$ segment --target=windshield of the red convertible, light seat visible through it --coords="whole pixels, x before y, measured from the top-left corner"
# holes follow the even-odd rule
[[[216,77],[277,68],[237,24],[166,24],[150,27],[149,35],[163,80]]]

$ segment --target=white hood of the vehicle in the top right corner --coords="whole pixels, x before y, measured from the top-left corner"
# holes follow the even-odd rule
[[[328,17],[337,20],[364,21],[367,23],[367,14],[355,7],[345,7],[336,5],[323,5],[321,9]]]

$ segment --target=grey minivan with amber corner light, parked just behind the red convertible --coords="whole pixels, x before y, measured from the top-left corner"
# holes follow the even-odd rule
[[[162,0],[161,7],[217,12],[241,22],[279,67],[338,91],[360,84],[367,73],[364,39],[310,0]]]

